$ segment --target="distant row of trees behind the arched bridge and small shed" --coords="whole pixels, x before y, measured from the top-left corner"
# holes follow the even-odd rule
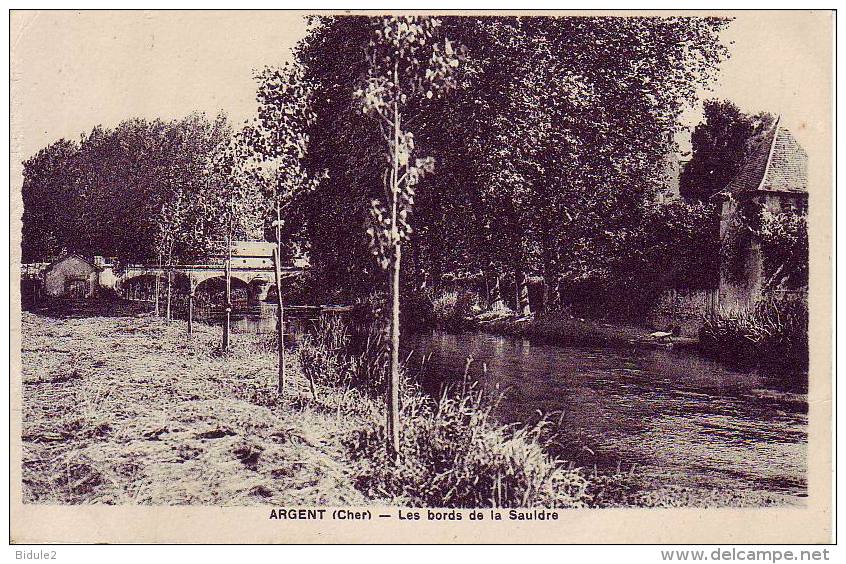
[[[45,147],[24,163],[23,261],[79,252],[168,264],[261,233],[245,148],[224,115],[196,113],[97,126]]]

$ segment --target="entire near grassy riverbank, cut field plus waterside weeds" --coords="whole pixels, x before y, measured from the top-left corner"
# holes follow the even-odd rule
[[[545,427],[499,427],[472,391],[435,401],[408,383],[395,467],[384,455],[378,384],[356,381],[370,370],[367,353],[339,353],[325,340],[337,339],[331,332],[289,354],[280,401],[272,337],[235,334],[223,356],[220,329],[203,324],[189,339],[185,323],[150,316],[22,321],[29,503],[790,503],[572,468],[545,451]]]

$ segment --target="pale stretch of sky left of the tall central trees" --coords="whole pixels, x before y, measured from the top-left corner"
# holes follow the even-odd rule
[[[131,117],[255,112],[253,69],[289,59],[291,12],[41,12],[12,22],[13,149]],[[15,142],[19,143],[15,147]]]

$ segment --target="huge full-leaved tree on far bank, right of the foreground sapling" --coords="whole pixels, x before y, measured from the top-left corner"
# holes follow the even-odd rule
[[[727,23],[445,20],[475,71],[465,87],[471,104],[450,110],[471,124],[459,137],[474,147],[467,176],[484,210],[486,254],[515,272],[520,313],[528,274],[543,276],[544,301],[557,305],[562,283],[600,287],[626,272],[681,110],[726,54],[717,34]],[[454,166],[464,165],[445,168]]]

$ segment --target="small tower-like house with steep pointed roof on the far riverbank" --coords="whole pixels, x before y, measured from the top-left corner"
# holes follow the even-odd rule
[[[757,218],[808,209],[808,155],[781,118],[750,141],[740,172],[712,199],[720,204],[719,305],[747,309],[766,285]]]

